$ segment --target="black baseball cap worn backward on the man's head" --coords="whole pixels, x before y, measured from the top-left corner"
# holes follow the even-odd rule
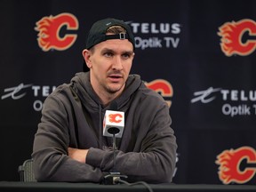
[[[126,30],[126,33],[106,35],[107,29],[111,26],[121,26]],[[90,29],[89,35],[87,37],[86,49],[90,49],[95,44],[100,44],[100,42],[107,41],[108,39],[128,39],[132,43],[133,48],[135,47],[134,36],[130,26],[125,23],[124,20],[108,18],[104,20],[98,20],[92,25],[92,28]]]

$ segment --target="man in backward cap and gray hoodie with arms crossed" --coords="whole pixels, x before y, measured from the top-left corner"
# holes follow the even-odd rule
[[[116,171],[127,181],[172,182],[176,138],[169,108],[138,75],[129,75],[134,37],[123,20],[92,25],[83,51],[89,72],[77,73],[44,101],[32,157],[37,181],[96,182],[113,171],[112,138],[102,134],[111,103],[123,111]]]

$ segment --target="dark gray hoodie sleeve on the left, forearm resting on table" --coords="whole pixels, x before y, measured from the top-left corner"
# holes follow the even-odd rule
[[[36,180],[100,182],[100,168],[68,157],[68,113],[71,110],[63,105],[63,98],[60,97],[55,92],[44,101],[41,123],[38,124],[31,155]]]

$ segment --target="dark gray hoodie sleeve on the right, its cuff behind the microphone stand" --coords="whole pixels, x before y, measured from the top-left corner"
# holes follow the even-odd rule
[[[134,103],[136,104],[136,102]],[[128,130],[125,130],[122,143],[126,140],[130,143],[134,142],[134,146],[130,150],[131,152],[116,151],[117,172],[127,175],[130,181],[172,182],[176,164],[177,144],[171,128],[172,120],[169,115],[169,107],[162,99],[154,102],[152,100],[150,102],[140,100],[140,109],[132,111],[132,113],[140,117],[134,119],[135,117],[132,116],[129,119],[128,116],[124,129],[129,130],[133,127],[131,132],[135,133],[131,133],[132,136],[127,141],[129,133],[127,134]],[[135,122],[138,122],[138,124]],[[112,156],[113,151],[90,148],[86,162],[92,166],[99,167],[103,171],[108,171],[113,166]]]

